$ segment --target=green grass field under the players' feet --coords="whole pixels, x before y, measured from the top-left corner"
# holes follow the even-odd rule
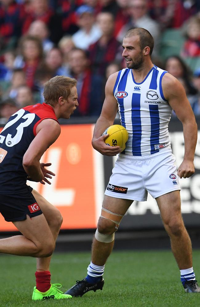
[[[187,294],[170,251],[114,251],[106,263],[103,291],[90,291],[69,300],[32,301],[35,259],[0,255],[0,306],[199,306],[198,293]],[[193,251],[194,270],[200,278],[200,250]],[[55,253],[51,281],[65,291],[85,277],[90,253]],[[199,279],[200,281],[200,279]]]

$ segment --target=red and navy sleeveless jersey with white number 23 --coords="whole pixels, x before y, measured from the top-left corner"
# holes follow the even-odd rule
[[[0,194],[27,190],[23,156],[36,136],[36,127],[46,118],[57,121],[54,109],[46,103],[25,107],[10,116],[0,133]]]

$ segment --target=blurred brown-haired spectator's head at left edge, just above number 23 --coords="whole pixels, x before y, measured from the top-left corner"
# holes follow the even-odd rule
[[[14,99],[8,98],[0,103],[0,124],[5,125],[11,115],[18,111]]]

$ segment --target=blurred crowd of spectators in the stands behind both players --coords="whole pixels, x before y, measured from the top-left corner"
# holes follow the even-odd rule
[[[153,63],[181,81],[200,115],[199,0],[0,0],[0,124],[42,103],[56,75],[77,79],[73,116],[98,117],[106,80],[126,68],[123,36],[135,27],[150,31]]]

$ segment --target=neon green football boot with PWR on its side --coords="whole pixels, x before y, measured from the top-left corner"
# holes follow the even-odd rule
[[[40,292],[38,289],[36,289],[36,286],[33,289],[33,295],[32,300],[48,300],[48,299],[54,299],[54,300],[60,300],[60,299],[66,299],[71,298],[72,296],[69,294],[64,294],[61,290],[58,288],[61,288],[61,284],[51,284],[51,287],[46,292]]]

